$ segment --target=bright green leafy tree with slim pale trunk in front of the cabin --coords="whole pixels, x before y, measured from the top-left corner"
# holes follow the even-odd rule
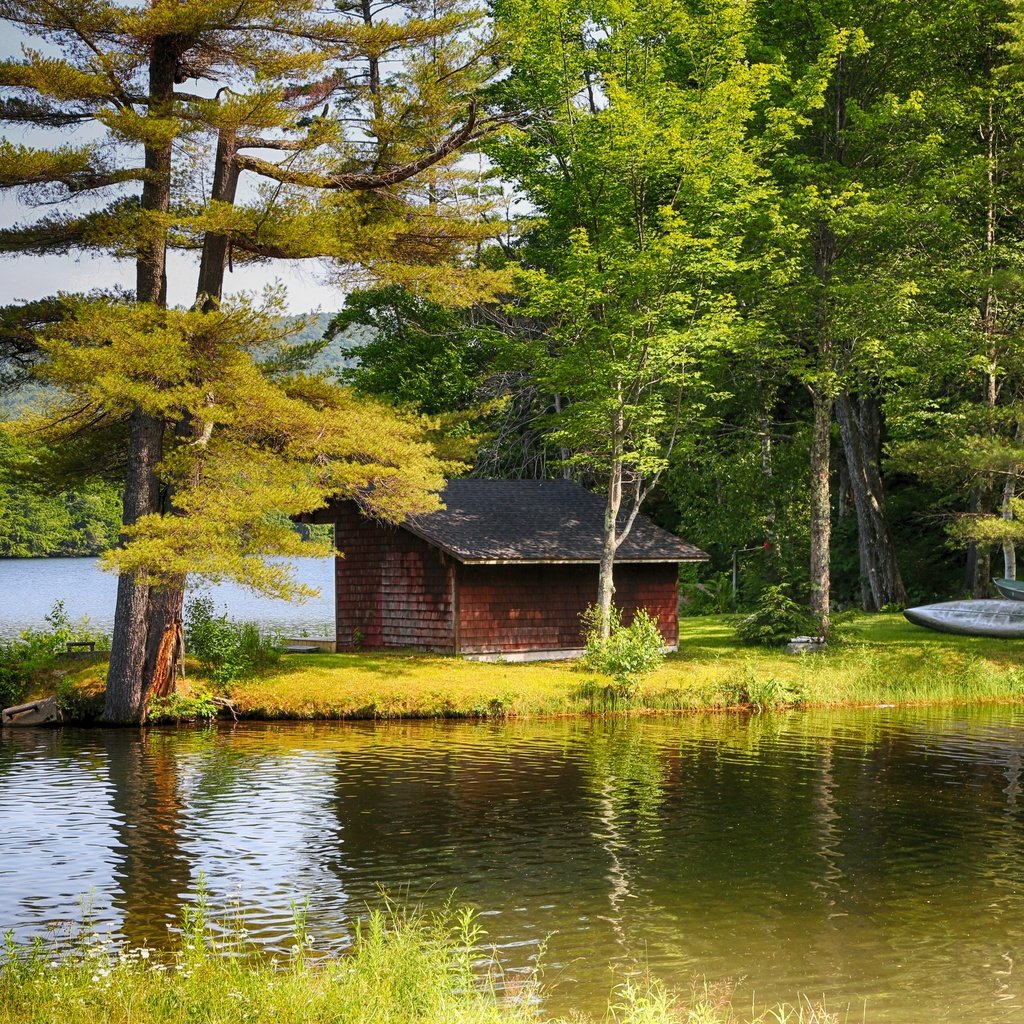
[[[528,129],[490,147],[531,205],[523,351],[561,396],[554,440],[606,495],[598,606],[615,552],[711,398],[701,369],[746,329],[733,295],[771,237],[751,129],[772,76],[746,5],[523,4],[506,102]],[[760,241],[754,226],[765,228]]]

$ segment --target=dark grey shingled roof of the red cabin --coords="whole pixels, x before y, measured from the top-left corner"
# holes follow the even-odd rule
[[[604,499],[569,480],[452,480],[445,507],[403,526],[461,562],[597,562]],[[642,515],[616,562],[708,558]]]

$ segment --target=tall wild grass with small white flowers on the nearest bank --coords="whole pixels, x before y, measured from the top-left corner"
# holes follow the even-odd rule
[[[202,900],[169,952],[83,933],[65,951],[8,938],[0,1024],[586,1024],[543,1014],[537,974],[502,973],[468,909],[433,914],[387,903],[358,922],[349,949],[318,956],[301,920],[290,955],[271,958],[245,932],[218,937]],[[740,1017],[728,990],[695,983],[678,997],[627,979],[598,1018],[607,1024],[839,1024],[807,1000]]]

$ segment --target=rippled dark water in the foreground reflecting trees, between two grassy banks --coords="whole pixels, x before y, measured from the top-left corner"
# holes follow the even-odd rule
[[[548,1008],[649,969],[738,1007],[1024,1020],[1024,709],[7,730],[0,928],[160,945],[215,911],[319,950],[400,899],[482,914]]]

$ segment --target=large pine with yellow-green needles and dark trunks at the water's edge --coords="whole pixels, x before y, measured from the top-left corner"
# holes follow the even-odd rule
[[[218,474],[250,481],[258,475],[258,461],[246,463],[245,444],[259,444],[244,431],[232,435],[222,420],[224,410],[241,415],[242,399],[225,382],[252,387],[261,397],[271,435],[268,418],[280,415],[282,424],[295,428],[302,421],[289,401],[322,418],[358,420],[354,407],[319,385],[276,380],[271,370],[255,366],[255,351],[274,347],[274,332],[252,309],[220,308],[225,266],[328,257],[349,276],[403,281],[449,298],[496,284],[485,271],[453,267],[467,246],[493,230],[480,226],[458,167],[460,151],[494,126],[475,99],[488,72],[490,43],[479,15],[454,0],[424,16],[423,5],[412,0],[399,7],[366,0],[326,16],[308,0],[100,0],[74,10],[0,3],[8,26],[27,38],[44,36],[59,50],[52,57],[26,47],[20,59],[0,63],[0,117],[52,133],[87,127],[78,134],[89,139],[0,145],[0,186],[18,188],[30,203],[65,205],[56,215],[0,233],[0,249],[105,253],[136,268],[130,305],[102,297],[77,303],[43,342],[45,375],[77,395],[82,416],[129,423],[128,543],[117,557],[109,721],[137,721],[154,685],[167,685],[189,571],[172,538],[196,541],[191,531],[202,534],[204,516],[226,516],[196,493]],[[243,175],[253,183],[246,186]],[[189,313],[167,308],[172,247],[202,254],[197,308]],[[267,390],[257,386],[260,381],[276,383]],[[367,438],[379,435],[385,449],[389,432],[410,441],[393,417],[377,414],[377,429]],[[73,410],[59,415],[63,424],[89,425]],[[325,424],[307,421],[306,427],[319,431]],[[217,432],[225,445],[233,438],[231,455],[249,466],[245,472],[232,475],[223,468],[229,459],[221,464],[213,457]],[[324,451],[303,454],[291,434],[289,439],[290,445],[280,441],[278,447],[290,457],[317,464],[351,458],[382,468],[393,480],[392,462],[375,457],[374,443],[346,456],[334,438]],[[413,455],[407,449],[402,458]],[[409,467],[416,486],[381,481],[373,488],[383,514],[400,517],[423,507],[425,489],[438,482],[437,467],[430,465],[419,451]],[[276,465],[266,470],[285,473]],[[350,479],[336,473],[322,474],[324,486],[364,487],[373,480],[365,472]],[[295,479],[292,485],[314,499]],[[267,501],[272,497],[272,488],[263,494]],[[238,500],[249,526],[240,527],[237,557],[216,545],[210,550],[219,550],[241,578],[276,586],[251,557],[253,539],[263,538],[257,524],[262,511],[251,499]],[[281,507],[295,510],[292,502]],[[197,563],[216,574],[212,563],[198,556],[190,564]]]

